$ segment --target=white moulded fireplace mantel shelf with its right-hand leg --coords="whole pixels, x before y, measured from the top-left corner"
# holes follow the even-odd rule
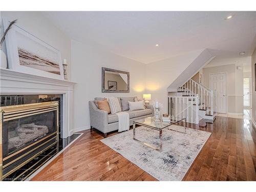
[[[62,94],[62,137],[73,134],[73,89],[75,82],[0,69],[0,93]]]

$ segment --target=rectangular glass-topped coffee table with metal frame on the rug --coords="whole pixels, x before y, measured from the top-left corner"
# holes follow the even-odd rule
[[[144,118],[144,119],[135,120],[135,121],[133,121],[133,139],[142,143],[142,144],[144,144],[144,145],[146,145],[146,146],[148,146],[148,147],[153,148],[154,150],[162,151],[162,147],[163,147],[163,144],[162,144],[162,130],[166,128],[166,129],[171,130],[171,131],[176,131],[176,130],[170,129],[170,125],[173,125],[173,124],[178,123],[180,121],[184,121],[184,132],[181,132],[181,133],[186,134],[186,118],[177,118],[177,117],[171,116],[170,117],[170,122],[163,122],[162,120],[155,121],[155,117],[147,117],[147,118]],[[160,147],[158,148],[156,146],[153,146],[151,144],[148,144],[146,142],[143,142],[143,141],[140,141],[140,140],[136,139],[136,137],[135,137],[136,124],[159,131]],[[176,131],[176,132],[180,132],[180,131]]]

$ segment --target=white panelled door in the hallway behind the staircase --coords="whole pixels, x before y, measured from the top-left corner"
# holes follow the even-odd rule
[[[226,113],[226,73],[210,74],[209,88],[216,92],[217,113]]]

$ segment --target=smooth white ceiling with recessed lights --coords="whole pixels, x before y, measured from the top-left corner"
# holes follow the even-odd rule
[[[70,38],[149,63],[197,49],[250,56],[256,12],[42,12]],[[224,18],[234,14],[230,20]],[[160,44],[156,47],[156,44]]]

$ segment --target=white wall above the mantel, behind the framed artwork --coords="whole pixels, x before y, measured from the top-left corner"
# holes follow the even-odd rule
[[[29,11],[1,11],[1,17],[9,20],[17,20],[16,25],[28,31],[49,45],[60,50],[61,59],[71,62],[71,39],[55,27],[49,19],[42,16],[40,12]],[[2,24],[2,21],[1,21]],[[1,33],[3,31],[1,30]],[[70,65],[68,66],[68,78],[70,79]]]

